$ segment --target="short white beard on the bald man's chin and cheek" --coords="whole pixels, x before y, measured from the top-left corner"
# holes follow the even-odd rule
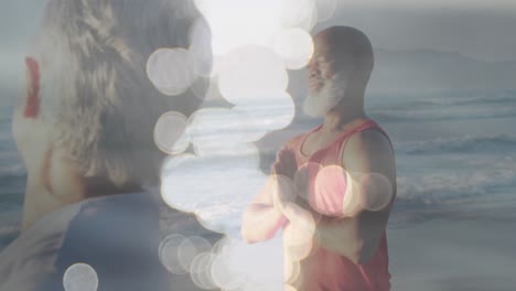
[[[303,112],[310,117],[324,117],[342,99],[347,88],[344,74],[336,74],[324,82],[319,93],[310,93],[303,101]]]

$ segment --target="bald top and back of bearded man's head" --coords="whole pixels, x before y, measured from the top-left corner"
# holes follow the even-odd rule
[[[374,54],[364,32],[351,26],[332,26],[319,32],[315,37],[327,44],[329,56],[334,60],[334,71],[348,71],[368,80],[374,67]]]

